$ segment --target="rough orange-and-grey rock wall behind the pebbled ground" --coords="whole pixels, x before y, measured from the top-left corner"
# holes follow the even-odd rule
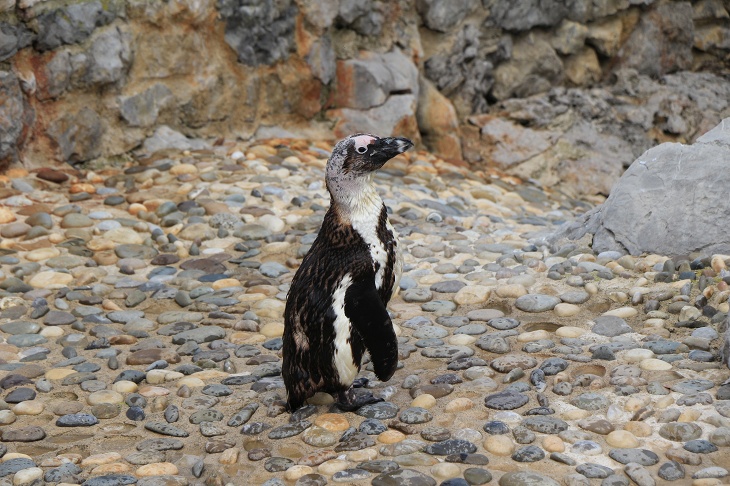
[[[109,163],[161,126],[207,138],[374,131],[550,183],[566,174],[535,157],[602,134],[594,118],[603,108],[562,126],[554,123],[561,113],[538,109],[525,119],[529,109],[557,97],[558,109],[575,112],[575,93],[630,105],[668,73],[722,75],[728,11],[730,0],[0,0],[0,161]],[[646,89],[607,89],[603,100],[582,90],[626,72]],[[718,83],[727,78],[715,76],[708,89]],[[678,106],[662,102],[625,116],[636,147],[610,133],[573,154],[573,165],[622,144],[628,163],[661,138],[651,131],[662,109],[669,120],[697,105],[686,96]],[[727,102],[706,123],[723,110]],[[507,121],[494,120],[505,113]],[[676,141],[702,128],[667,123],[661,135]],[[512,160],[510,140],[523,137],[536,145]],[[577,192],[605,190],[584,185]]]

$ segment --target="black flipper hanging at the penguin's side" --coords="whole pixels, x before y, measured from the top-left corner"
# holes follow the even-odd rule
[[[345,315],[370,352],[378,379],[388,381],[398,366],[398,340],[373,278],[350,285],[345,293]]]

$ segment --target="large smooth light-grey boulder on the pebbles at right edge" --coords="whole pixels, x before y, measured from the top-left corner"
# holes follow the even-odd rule
[[[730,118],[692,145],[664,143],[636,159],[601,206],[551,238],[593,235],[593,250],[667,256],[730,254]]]

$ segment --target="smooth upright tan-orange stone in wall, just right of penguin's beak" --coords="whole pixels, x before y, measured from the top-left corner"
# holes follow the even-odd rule
[[[416,120],[423,142],[445,159],[462,158],[459,119],[454,105],[427,79],[419,79]]]

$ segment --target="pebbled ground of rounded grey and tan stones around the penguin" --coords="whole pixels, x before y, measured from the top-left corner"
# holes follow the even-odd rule
[[[402,366],[361,373],[384,401],[285,412],[329,148],[5,174],[0,485],[730,484],[730,257],[551,252],[590,204],[422,152],[375,178],[405,257]]]

